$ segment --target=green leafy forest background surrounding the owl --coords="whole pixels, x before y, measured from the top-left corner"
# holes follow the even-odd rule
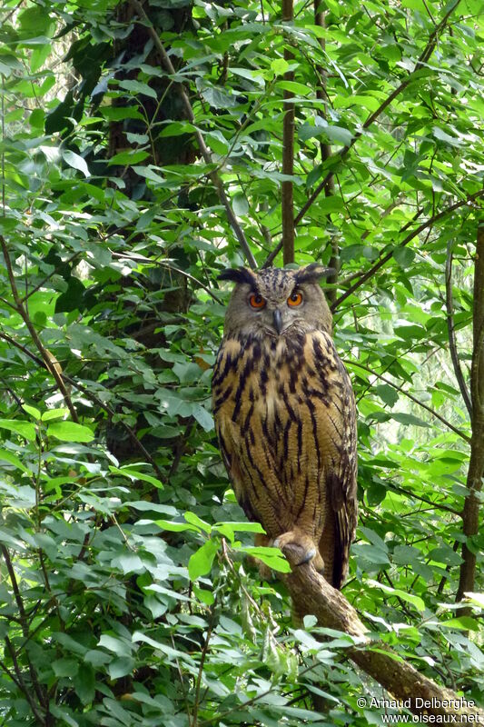
[[[389,649],[482,705],[481,0],[0,14],[0,724],[380,724]],[[261,581],[213,431],[217,275],[314,260],[363,645]]]

